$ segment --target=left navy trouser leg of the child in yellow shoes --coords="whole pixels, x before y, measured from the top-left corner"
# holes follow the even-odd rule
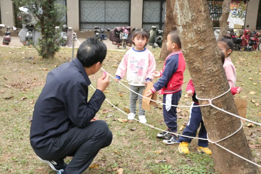
[[[195,105],[198,105],[198,104],[196,104],[196,103],[192,104],[192,106],[195,106]],[[182,135],[195,137],[197,135],[197,130],[200,126],[200,122],[202,122],[202,115],[201,115],[200,107],[191,107],[188,123],[187,123],[185,129],[183,130]],[[192,138],[188,138],[188,137],[184,137],[184,136],[179,137],[179,142],[185,141],[185,142],[190,143],[191,140],[192,140]]]

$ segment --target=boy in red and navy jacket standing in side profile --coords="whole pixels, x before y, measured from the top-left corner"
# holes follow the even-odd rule
[[[149,97],[156,91],[163,94],[163,117],[168,127],[167,131],[177,133],[177,107],[169,105],[178,105],[181,97],[181,86],[183,84],[183,73],[186,68],[185,60],[181,51],[181,43],[177,31],[171,31],[167,36],[167,50],[172,53],[166,58],[162,71],[156,71],[155,77],[161,77],[146,92],[145,96]],[[166,138],[163,140],[166,144],[177,143],[178,138],[167,132],[157,134],[158,137]]]

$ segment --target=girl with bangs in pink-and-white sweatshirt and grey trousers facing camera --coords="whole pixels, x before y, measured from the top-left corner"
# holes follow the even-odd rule
[[[132,34],[132,41],[135,45],[124,55],[117,71],[115,81],[123,79],[127,72],[127,81],[130,88],[141,94],[145,89],[145,84],[151,81],[156,68],[153,54],[145,47],[149,40],[149,32],[145,29],[135,29]],[[145,110],[141,108],[142,97],[134,92],[130,92],[130,113],[128,120],[133,120],[136,114],[136,103],[139,99],[139,120],[147,123]]]

